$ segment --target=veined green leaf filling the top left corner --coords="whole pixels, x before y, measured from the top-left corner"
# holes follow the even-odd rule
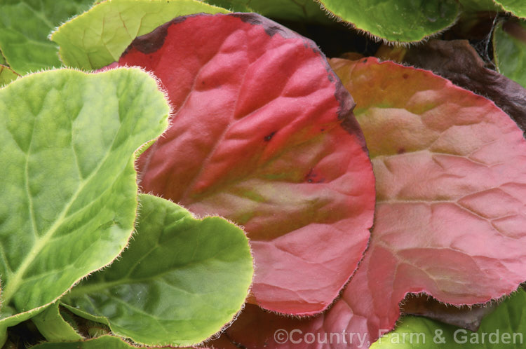
[[[60,67],[57,46],[48,34],[61,22],[89,8],[93,0],[2,0],[0,49],[18,74]]]

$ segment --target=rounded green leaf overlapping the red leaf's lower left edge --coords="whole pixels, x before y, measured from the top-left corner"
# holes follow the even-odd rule
[[[140,205],[137,235],[121,258],[62,301],[137,343],[199,343],[243,305],[252,280],[248,240],[220,217],[196,219],[156,196],[141,195]]]

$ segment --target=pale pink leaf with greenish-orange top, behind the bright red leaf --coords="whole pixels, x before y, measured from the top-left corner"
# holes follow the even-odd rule
[[[274,345],[279,328],[322,338],[345,329],[372,343],[409,292],[485,303],[526,280],[526,141],[511,118],[429,71],[371,57],[331,65],[356,99],[377,178],[371,242],[328,312],[269,322],[255,337],[249,324],[273,315],[251,309],[227,330],[241,345]]]

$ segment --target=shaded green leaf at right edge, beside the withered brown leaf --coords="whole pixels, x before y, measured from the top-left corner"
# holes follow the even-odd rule
[[[499,23],[493,34],[493,49],[500,73],[526,88],[526,22]]]

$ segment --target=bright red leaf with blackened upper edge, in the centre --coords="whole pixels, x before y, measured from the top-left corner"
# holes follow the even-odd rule
[[[119,64],[154,71],[177,107],[139,159],[143,190],[244,226],[262,307],[325,309],[367,246],[375,184],[351,96],[316,44],[256,14],[193,15]]]

